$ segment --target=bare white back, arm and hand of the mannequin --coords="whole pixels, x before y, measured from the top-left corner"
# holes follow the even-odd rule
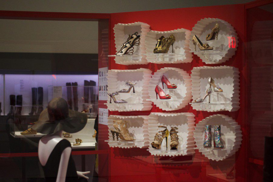
[[[63,140],[62,133],[63,131],[57,131],[56,133],[49,134],[42,137],[41,140],[39,141],[38,156],[42,166],[45,166],[49,158],[49,155],[51,154],[55,146],[61,140]],[[65,182],[67,165],[68,165],[70,154],[71,154],[71,147],[67,147],[65,150],[63,150],[56,182]],[[85,179],[89,179],[89,177],[85,176],[85,174],[89,174],[89,173],[90,171],[86,171],[86,172],[77,171],[78,177],[83,177]]]

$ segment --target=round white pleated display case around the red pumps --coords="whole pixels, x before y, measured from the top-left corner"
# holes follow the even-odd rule
[[[170,83],[174,83],[176,89],[168,89],[167,85],[162,86],[161,78],[166,76]],[[169,94],[171,99],[160,99],[156,96],[155,88],[160,86],[165,94]],[[150,99],[157,107],[162,110],[171,111],[182,109],[190,103],[191,99],[191,80],[189,74],[183,69],[179,68],[162,68],[157,70],[149,82],[149,96]]]

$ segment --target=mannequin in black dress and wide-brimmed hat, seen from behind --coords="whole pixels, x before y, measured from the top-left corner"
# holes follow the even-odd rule
[[[76,133],[87,123],[87,115],[69,110],[66,100],[54,98],[43,110],[32,129],[46,134],[39,141],[38,157],[46,182],[83,182],[90,171],[76,171],[71,144],[62,138],[63,131]]]

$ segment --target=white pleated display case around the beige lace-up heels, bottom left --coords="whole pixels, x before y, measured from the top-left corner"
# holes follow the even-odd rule
[[[148,133],[148,118],[149,116],[118,116],[110,115],[108,117],[108,128],[109,128],[109,140],[106,140],[110,147],[119,148],[146,148],[149,145]],[[129,135],[134,140],[127,141],[122,140],[120,137],[117,140],[116,134],[113,136],[111,130],[115,130],[113,126],[114,120],[123,120],[128,128]],[[120,134],[119,134],[120,135]]]

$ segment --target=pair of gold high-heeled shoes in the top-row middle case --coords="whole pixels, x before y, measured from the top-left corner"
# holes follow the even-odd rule
[[[153,49],[153,53],[168,53],[170,46],[172,45],[172,52],[174,52],[174,35],[165,38],[163,35],[157,40],[156,48]]]

